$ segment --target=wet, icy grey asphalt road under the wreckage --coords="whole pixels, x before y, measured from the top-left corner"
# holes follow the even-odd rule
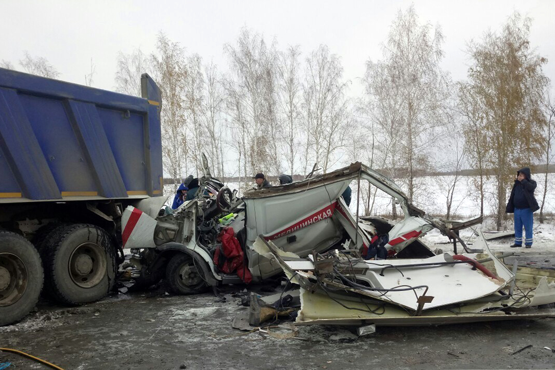
[[[435,244],[433,233],[426,238]],[[507,239],[490,245],[494,251],[518,249],[514,252],[525,266],[543,261],[545,267],[555,268],[555,243],[547,235],[539,239],[532,249],[509,248]],[[247,288],[261,295],[279,292],[279,287],[263,292],[272,287]],[[65,370],[555,368],[555,353],[544,348],[555,348],[555,318],[378,327],[365,337],[358,337],[356,328],[300,326],[296,338],[276,339],[231,328],[236,314],[248,309],[240,306],[244,288],[225,287],[225,301],[212,293],[173,296],[160,284],[144,292],[114,293],[77,308],[41,302],[38,312],[0,328],[0,346],[28,352]],[[0,363],[6,361],[16,369],[46,368],[0,353]]]

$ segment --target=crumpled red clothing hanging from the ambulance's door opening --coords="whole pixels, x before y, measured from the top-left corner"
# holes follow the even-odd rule
[[[243,249],[241,249],[239,241],[234,234],[235,232],[231,227],[226,227],[220,232],[221,247],[216,249],[214,253],[214,264],[219,267],[220,271],[226,274],[237,271],[237,276],[248,284],[253,280],[253,276],[249,268],[245,266]],[[220,253],[225,257],[224,263],[220,262]]]

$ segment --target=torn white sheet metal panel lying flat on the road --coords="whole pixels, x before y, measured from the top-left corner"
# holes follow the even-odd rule
[[[553,272],[526,268],[524,273],[521,269],[517,273],[514,293],[509,294],[509,284],[515,281],[514,274],[491,253],[483,235],[480,243],[486,253],[480,254],[480,259],[491,258],[488,268],[495,272],[496,278],[486,276],[480,269],[473,270],[467,263],[433,265],[447,262],[447,257],[452,257],[449,255],[387,261],[359,259],[351,260],[348,267],[338,257],[334,273],[319,273],[310,258],[302,264],[299,258],[290,261],[291,257],[282,257],[280,254],[283,253],[273,243],[263,243],[287,276],[294,277],[300,285],[301,310],[296,319],[300,324],[426,326],[542,318],[555,314],[555,309],[532,307],[555,302],[555,276],[549,275]],[[335,253],[337,257],[345,252]],[[477,255],[463,257],[476,258]],[[403,267],[423,261],[431,265]],[[483,266],[477,266],[487,271]],[[491,271],[487,273],[492,274]],[[342,278],[336,279],[335,276]],[[351,280],[357,283],[347,284]],[[367,288],[362,282],[366,282]],[[427,291],[418,291],[419,283],[426,286]],[[391,291],[400,286],[415,289],[407,291],[410,294]],[[386,290],[372,290],[380,287]]]

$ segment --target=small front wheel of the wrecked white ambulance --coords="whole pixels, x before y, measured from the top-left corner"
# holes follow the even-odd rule
[[[204,277],[200,258],[178,252],[171,257],[166,267],[166,283],[175,294],[198,294],[206,291],[208,284]]]

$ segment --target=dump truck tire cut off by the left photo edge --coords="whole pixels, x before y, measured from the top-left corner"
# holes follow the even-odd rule
[[[41,257],[33,244],[0,231],[0,326],[27,316],[37,304],[43,281]]]

